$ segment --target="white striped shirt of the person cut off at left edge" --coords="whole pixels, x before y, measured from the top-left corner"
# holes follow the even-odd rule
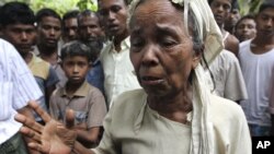
[[[16,110],[41,96],[42,92],[25,61],[12,45],[0,39],[0,144],[21,127],[14,120]]]

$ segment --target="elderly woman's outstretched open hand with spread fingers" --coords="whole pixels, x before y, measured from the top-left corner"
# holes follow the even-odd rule
[[[66,111],[65,127],[62,123],[52,119],[35,102],[28,103],[28,106],[41,116],[45,121],[45,126],[23,115],[18,114],[15,116],[15,120],[23,125],[20,132],[36,141],[27,145],[45,154],[70,154],[77,137],[76,131],[71,129],[75,120],[73,110]]]

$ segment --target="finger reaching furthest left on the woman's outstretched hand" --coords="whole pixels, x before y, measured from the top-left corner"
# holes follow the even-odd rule
[[[34,121],[33,119],[26,118],[23,115],[15,115],[14,119],[24,126],[28,127],[31,130],[41,132],[43,130],[43,126],[41,126],[38,122]]]

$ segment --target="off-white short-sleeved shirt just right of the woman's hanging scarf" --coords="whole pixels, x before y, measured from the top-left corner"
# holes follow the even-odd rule
[[[231,51],[222,50],[210,63],[209,69],[216,85],[215,94],[233,102],[248,99],[240,63]],[[209,71],[206,70],[206,73],[209,76],[207,82],[212,85],[210,90],[213,90]]]

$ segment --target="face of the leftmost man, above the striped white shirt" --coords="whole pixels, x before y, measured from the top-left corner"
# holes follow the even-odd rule
[[[10,24],[3,27],[2,37],[10,42],[21,55],[32,50],[36,32],[32,24]]]

